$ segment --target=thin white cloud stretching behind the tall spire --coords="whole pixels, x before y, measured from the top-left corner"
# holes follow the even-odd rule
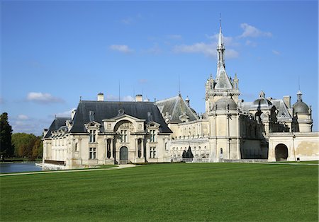
[[[216,44],[207,44],[204,42],[197,42],[193,45],[176,45],[173,49],[176,53],[200,53],[208,57],[216,57]],[[225,50],[225,57],[228,59],[237,58],[239,53],[235,49]]]

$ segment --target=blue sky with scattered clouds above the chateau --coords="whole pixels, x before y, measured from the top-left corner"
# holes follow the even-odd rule
[[[189,95],[205,110],[222,14],[226,71],[245,101],[291,95],[318,131],[318,1],[1,1],[0,111],[40,135],[79,98]]]

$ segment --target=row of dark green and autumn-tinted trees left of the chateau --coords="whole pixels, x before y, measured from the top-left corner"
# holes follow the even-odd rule
[[[42,136],[34,134],[12,134],[12,127],[8,121],[8,113],[0,115],[0,156],[4,158],[42,158]]]

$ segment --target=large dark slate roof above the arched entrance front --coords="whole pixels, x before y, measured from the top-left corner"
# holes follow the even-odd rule
[[[111,101],[80,101],[77,112],[73,118],[71,133],[86,133],[84,124],[95,121],[103,126],[102,119],[112,119],[118,117],[119,110],[123,110],[126,115],[145,119],[146,122],[157,122],[160,124],[159,132],[172,133],[167,127],[157,106],[152,102],[111,102]],[[93,111],[94,115],[90,115]],[[151,115],[150,115],[151,114]]]

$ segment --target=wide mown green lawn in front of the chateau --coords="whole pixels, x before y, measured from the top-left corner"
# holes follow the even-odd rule
[[[0,221],[318,221],[314,165],[156,164],[0,182]]]

